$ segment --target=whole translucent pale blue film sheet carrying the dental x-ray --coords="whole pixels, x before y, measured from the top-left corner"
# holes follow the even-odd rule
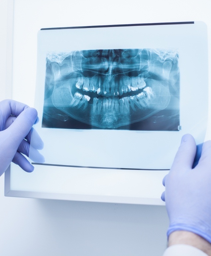
[[[204,140],[207,56],[203,22],[41,29],[33,164],[169,169],[182,135]]]

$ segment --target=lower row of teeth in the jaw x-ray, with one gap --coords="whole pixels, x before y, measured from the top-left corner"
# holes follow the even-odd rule
[[[127,96],[123,98],[118,97],[94,97],[92,103],[92,110],[100,112],[100,110],[116,110],[126,109],[129,111],[129,107],[132,109],[142,108],[149,103],[150,98],[153,96],[153,91],[151,87],[146,87],[143,91],[137,95]],[[86,107],[90,101],[88,95],[82,95],[79,92],[74,94],[74,97],[70,103],[71,107]]]

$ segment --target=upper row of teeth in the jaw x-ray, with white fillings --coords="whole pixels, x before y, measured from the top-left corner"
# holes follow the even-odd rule
[[[99,77],[79,77],[75,87],[85,92],[97,92],[98,95],[105,97],[117,97],[122,96],[123,93],[136,92],[139,89],[143,89],[146,87],[146,83],[143,77],[130,78],[123,76],[118,83],[112,80],[109,81],[106,78],[102,81]]]

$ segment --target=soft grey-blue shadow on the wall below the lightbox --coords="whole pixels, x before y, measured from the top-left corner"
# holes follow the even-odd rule
[[[165,250],[168,218],[163,206],[45,199],[37,203],[52,250],[59,247],[60,255],[157,256]]]

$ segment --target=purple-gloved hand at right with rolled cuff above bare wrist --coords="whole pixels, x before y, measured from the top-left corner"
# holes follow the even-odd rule
[[[166,203],[170,222],[167,236],[173,231],[185,230],[211,243],[211,141],[203,143],[196,166],[195,155],[195,140],[186,134],[169,174],[163,179],[165,192],[161,199]]]

